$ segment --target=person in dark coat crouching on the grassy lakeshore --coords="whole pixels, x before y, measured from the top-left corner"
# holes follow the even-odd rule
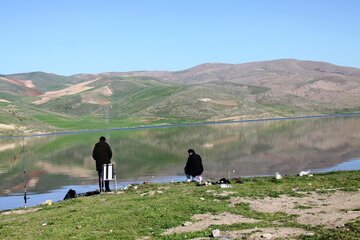
[[[188,153],[189,153],[189,157],[184,169],[187,181],[190,182],[191,181],[190,177],[192,177],[195,181],[201,182],[202,181],[201,174],[204,171],[201,157],[200,155],[195,153],[194,149],[189,149]]]

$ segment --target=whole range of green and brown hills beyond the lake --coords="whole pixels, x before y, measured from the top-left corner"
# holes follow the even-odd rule
[[[360,110],[360,69],[281,59],[183,71],[0,75],[0,134]]]

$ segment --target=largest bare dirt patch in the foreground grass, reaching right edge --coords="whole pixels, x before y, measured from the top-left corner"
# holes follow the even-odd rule
[[[360,217],[360,192],[310,193],[304,197],[280,196],[264,199],[232,198],[231,206],[248,203],[259,212],[296,214],[297,221],[307,225],[341,227]]]

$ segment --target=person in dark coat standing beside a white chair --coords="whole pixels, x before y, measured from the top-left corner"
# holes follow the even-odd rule
[[[95,144],[93,150],[93,158],[96,161],[96,171],[98,172],[99,176],[99,187],[100,191],[103,191],[101,176],[102,176],[102,165],[110,163],[112,157],[112,151],[109,144],[106,142],[105,137],[100,137],[100,141]],[[105,191],[110,192],[109,188],[109,181],[105,181]]]

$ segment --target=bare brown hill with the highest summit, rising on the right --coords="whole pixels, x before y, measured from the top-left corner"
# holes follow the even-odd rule
[[[260,104],[281,103],[312,109],[360,106],[360,69],[325,62],[282,59],[244,64],[208,63],[177,72],[107,74],[152,77],[180,85],[215,84],[232,88],[233,95]]]

